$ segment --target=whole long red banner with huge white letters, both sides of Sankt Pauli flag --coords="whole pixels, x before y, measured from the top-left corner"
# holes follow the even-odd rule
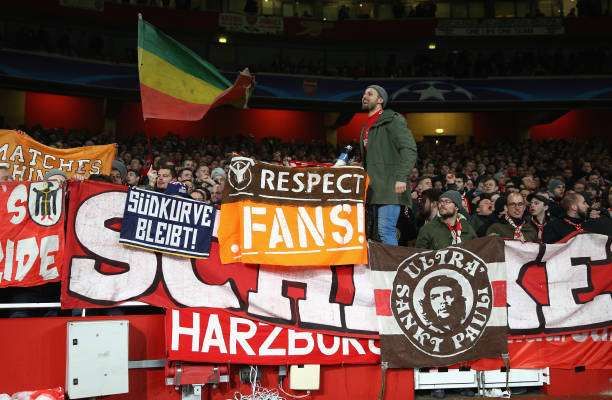
[[[367,266],[221,264],[215,240],[208,259],[125,247],[119,243],[119,231],[126,190],[100,182],[71,183],[63,307],[107,307],[138,300],[165,308],[224,309],[321,333],[378,337],[377,302]],[[519,326],[514,331],[511,324],[510,334],[555,335],[609,325],[610,240],[583,234],[563,245],[506,242],[505,251],[513,253],[505,268],[500,264],[500,271],[516,276],[494,290],[508,288],[509,319],[519,315],[525,327],[540,327]]]

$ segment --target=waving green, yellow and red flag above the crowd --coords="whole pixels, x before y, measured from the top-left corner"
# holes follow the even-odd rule
[[[254,83],[245,69],[232,85],[212,64],[142,17],[138,74],[144,119],[196,121],[220,105],[245,107]]]

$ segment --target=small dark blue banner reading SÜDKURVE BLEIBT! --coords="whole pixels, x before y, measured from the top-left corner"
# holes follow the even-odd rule
[[[170,254],[208,257],[215,215],[215,208],[201,201],[130,188],[119,242]]]

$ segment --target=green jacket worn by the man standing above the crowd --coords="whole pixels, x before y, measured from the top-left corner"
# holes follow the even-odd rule
[[[384,110],[370,128],[366,149],[363,134],[362,129],[359,143],[364,154],[363,165],[370,177],[368,203],[410,206],[410,188],[404,193],[395,193],[395,182],[407,182],[417,157],[416,143],[406,119],[395,111]]]

